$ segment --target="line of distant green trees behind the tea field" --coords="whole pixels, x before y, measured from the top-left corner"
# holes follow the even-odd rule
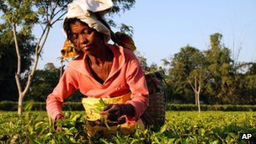
[[[205,51],[190,45],[184,46],[172,57],[163,59],[163,67],[158,67],[156,63],[148,66],[147,59],[138,51],[136,56],[145,73],[155,72],[159,68],[165,72],[162,76],[163,83],[158,84],[156,81],[156,84],[165,92],[168,103],[256,104],[256,63],[235,61],[230,49],[221,43],[221,38],[222,35],[218,33],[210,35],[211,45]],[[8,56],[0,57],[0,60],[4,60],[0,61],[0,101],[18,101],[13,67],[14,51],[9,52]],[[27,63],[32,61],[24,60]],[[28,68],[24,67],[24,72]],[[32,99],[45,102],[47,95],[59,81],[61,68],[63,67],[48,63],[45,69],[37,70],[24,101]],[[65,67],[63,69],[65,70]],[[26,77],[24,74],[24,78]],[[152,91],[152,88],[149,88],[149,91]],[[77,90],[66,101],[80,102],[83,97]]]

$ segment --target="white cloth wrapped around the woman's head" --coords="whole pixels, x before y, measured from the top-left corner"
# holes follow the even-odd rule
[[[74,0],[67,6],[67,14],[64,18],[71,19],[77,18],[88,24],[92,29],[96,29],[100,33],[104,34],[104,42],[108,43],[110,40],[109,29],[102,24],[99,19],[97,19],[95,12],[98,12],[102,19],[104,19],[104,14],[108,13],[113,7],[111,0]],[[63,28],[62,28],[63,29]],[[63,29],[66,37],[67,33]]]

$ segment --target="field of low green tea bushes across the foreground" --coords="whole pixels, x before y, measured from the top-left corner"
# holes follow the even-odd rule
[[[84,135],[84,112],[65,112],[58,122],[61,131],[52,128],[45,111],[0,112],[0,143],[252,143],[240,140],[243,133],[256,136],[254,112],[167,111],[166,122],[158,131],[137,130],[130,136]]]

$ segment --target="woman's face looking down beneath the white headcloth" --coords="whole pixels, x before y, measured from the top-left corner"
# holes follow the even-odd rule
[[[79,21],[70,24],[71,28],[71,41],[83,52],[88,55],[100,52],[104,45],[104,36],[91,29],[87,24],[83,24]]]

